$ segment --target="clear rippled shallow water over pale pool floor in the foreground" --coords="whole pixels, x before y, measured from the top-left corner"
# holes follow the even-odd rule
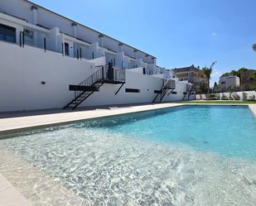
[[[227,159],[95,129],[1,141],[89,205],[254,205],[254,161]]]

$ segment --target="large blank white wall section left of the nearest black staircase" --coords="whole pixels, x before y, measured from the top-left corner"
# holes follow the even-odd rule
[[[68,85],[93,73],[85,60],[0,42],[0,112],[64,107],[74,97]]]

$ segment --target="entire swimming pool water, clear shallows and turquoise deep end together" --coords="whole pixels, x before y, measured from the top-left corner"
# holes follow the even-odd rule
[[[1,140],[0,148],[50,175],[83,204],[256,202],[256,118],[246,106],[104,117],[22,133]]]

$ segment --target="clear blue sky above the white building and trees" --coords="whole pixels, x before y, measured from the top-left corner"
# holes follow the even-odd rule
[[[256,69],[255,0],[34,0],[157,56],[167,69],[210,66],[212,84],[231,69]]]

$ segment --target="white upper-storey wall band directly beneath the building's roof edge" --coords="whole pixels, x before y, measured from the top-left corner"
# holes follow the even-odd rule
[[[109,36],[104,36],[103,40],[99,38],[100,32],[94,31],[89,27],[77,24],[74,32],[73,21],[65,17],[61,17],[56,13],[50,12],[43,7],[37,7],[36,11],[31,10],[31,6],[34,5],[31,2],[23,0],[1,0],[0,1],[0,12],[7,12],[17,17],[26,19],[31,24],[40,24],[48,28],[59,27],[60,31],[70,36],[76,36],[82,40],[89,41],[91,43],[102,44],[111,50],[120,51],[119,41],[114,40]],[[85,8],[86,9],[89,8]],[[34,14],[36,12],[36,18]],[[35,21],[36,20],[36,21]],[[122,50],[126,55],[134,57],[134,48],[123,44]],[[88,55],[87,55],[88,56]],[[99,54],[100,56],[100,54]],[[98,57],[98,56],[97,56]],[[137,57],[147,61],[149,64],[156,65],[155,60],[152,60],[152,56],[146,57],[146,53],[138,50]]]

